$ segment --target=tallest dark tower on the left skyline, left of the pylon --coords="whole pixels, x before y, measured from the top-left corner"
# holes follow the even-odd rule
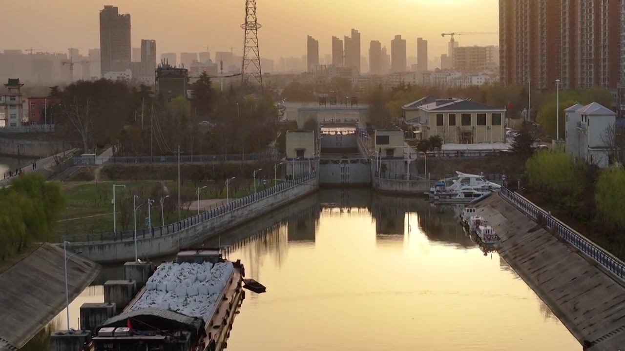
[[[130,15],[106,5],[100,11],[101,74],[129,69],[132,62]]]

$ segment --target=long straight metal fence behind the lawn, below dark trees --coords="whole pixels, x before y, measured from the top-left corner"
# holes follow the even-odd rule
[[[184,155],[180,162],[222,162],[222,161],[276,161],[281,159],[278,154],[221,154],[221,155]],[[104,161],[104,162],[98,162]],[[74,157],[74,165],[83,164],[147,164],[178,162],[178,156],[111,156],[111,157]]]

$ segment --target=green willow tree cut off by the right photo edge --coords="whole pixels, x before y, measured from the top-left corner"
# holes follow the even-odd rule
[[[597,214],[605,224],[625,229],[625,170],[610,167],[601,171],[595,185],[594,200]]]

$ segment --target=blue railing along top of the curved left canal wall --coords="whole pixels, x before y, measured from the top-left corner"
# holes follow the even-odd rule
[[[312,173],[303,175],[302,177],[299,177],[297,179],[289,180],[287,182],[277,184],[276,186],[256,192],[256,194],[247,195],[246,197],[241,197],[240,199],[232,199],[231,202],[227,204],[223,204],[219,207],[215,207],[214,209],[207,210],[205,212],[202,212],[199,215],[188,217],[174,224],[164,225],[161,227],[137,229],[137,237],[145,239],[149,237],[158,237],[162,235],[174,234],[176,232],[179,232],[180,230],[187,229],[196,224],[200,224],[206,220],[211,220],[215,217],[219,217],[222,214],[226,214],[227,212],[230,212],[232,210],[236,210],[243,206],[249,205],[252,202],[265,199],[266,197],[277,194],[278,192],[292,189],[296,187],[297,185],[302,184],[302,182],[306,182],[307,180],[311,180],[316,177],[317,177],[316,172],[312,172]],[[109,233],[99,233],[99,234],[68,235],[67,239],[70,242],[73,242],[74,244],[78,244],[81,242],[110,242],[110,241],[134,240],[134,230],[124,230],[124,231],[116,232],[116,233],[109,232]]]

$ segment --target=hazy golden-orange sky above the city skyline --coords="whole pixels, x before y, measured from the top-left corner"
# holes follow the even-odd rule
[[[99,47],[98,13],[118,6],[132,16],[133,47],[156,39],[162,52],[241,53],[244,0],[20,0],[2,1],[5,33],[0,49],[35,49],[81,54]],[[497,0],[257,0],[262,57],[306,54],[306,36],[319,41],[319,54],[331,52],[332,36],[361,32],[361,54],[378,40],[390,52],[391,39],[407,39],[407,56],[416,56],[417,37],[427,39],[428,56],[447,52],[442,32],[497,32]],[[456,37],[461,46],[496,45],[496,34]]]

